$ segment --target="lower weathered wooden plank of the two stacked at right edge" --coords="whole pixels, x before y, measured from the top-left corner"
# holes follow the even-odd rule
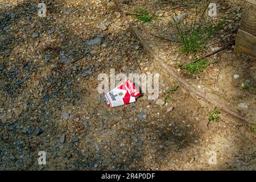
[[[246,53],[256,58],[256,36],[241,29],[238,30],[234,51]]]

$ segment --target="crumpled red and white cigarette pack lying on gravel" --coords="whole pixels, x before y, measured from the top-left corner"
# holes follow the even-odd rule
[[[105,94],[106,100],[110,107],[117,107],[130,104],[136,101],[136,98],[141,96],[139,89],[135,87],[131,80],[127,79],[125,83],[117,86],[110,92]]]

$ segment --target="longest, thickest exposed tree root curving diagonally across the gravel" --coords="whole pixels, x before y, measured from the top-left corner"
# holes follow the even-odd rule
[[[156,52],[153,51],[153,49],[148,46],[148,43],[142,38],[142,36],[138,33],[136,30],[135,26],[131,21],[127,18],[125,11],[122,10],[121,4],[118,2],[118,0],[115,0],[117,3],[117,6],[119,10],[121,11],[123,18],[129,23],[129,26],[131,30],[133,30],[134,34],[137,36],[137,38],[141,41],[142,46],[144,49],[146,49],[147,53],[149,53],[150,56],[153,57],[155,63],[158,65],[159,68],[161,68],[163,71],[167,72],[168,75],[170,75],[172,78],[174,78],[181,86],[183,86],[185,89],[189,90],[193,94],[196,94],[200,98],[203,98],[205,101],[209,102],[210,104],[218,107],[221,110],[224,110],[226,113],[233,115],[236,118],[239,118],[243,121],[246,121],[246,124],[249,125],[254,125],[254,122],[251,121],[248,118],[242,117],[240,114],[236,113],[233,110],[230,110],[229,107],[225,104],[225,101],[222,100],[221,98],[214,99],[212,96],[208,96],[207,94],[204,94],[200,90],[197,90],[194,86],[189,84],[188,81],[186,81],[184,78],[180,77],[174,69],[172,69],[169,65],[167,65],[159,56]]]

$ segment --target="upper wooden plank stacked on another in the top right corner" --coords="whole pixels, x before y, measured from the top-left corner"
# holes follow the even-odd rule
[[[256,0],[254,1],[256,2]],[[256,5],[249,2],[245,3],[241,20],[241,29],[256,36]]]

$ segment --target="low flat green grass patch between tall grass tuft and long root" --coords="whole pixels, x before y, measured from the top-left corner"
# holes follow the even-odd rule
[[[203,72],[205,68],[207,68],[214,61],[208,61],[207,59],[201,59],[196,61],[195,63],[188,63],[181,67],[181,69],[187,69],[189,73],[193,74],[195,72]]]

